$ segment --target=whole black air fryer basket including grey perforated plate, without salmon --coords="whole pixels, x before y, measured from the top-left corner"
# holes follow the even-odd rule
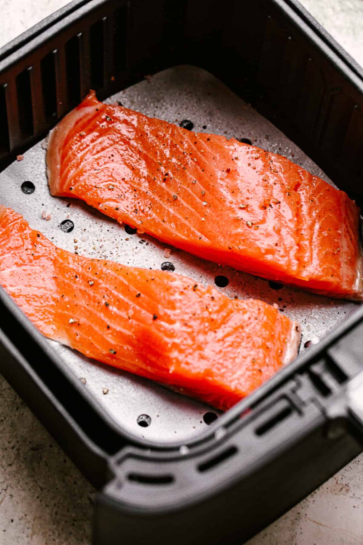
[[[166,258],[156,240],[51,197],[42,138],[90,88],[150,116],[188,119],[194,131],[248,138],[330,182],[322,168],[359,201],[362,74],[282,0],[75,1],[0,51],[3,204],[67,250],[151,268],[168,261],[203,283],[222,276],[226,294],[261,298],[302,324],[298,360],[216,419],[46,341],[0,293],[2,373],[89,479],[107,483],[95,542],[146,543],[155,532],[163,543],[171,529],[175,543],[245,539],[361,450],[347,387],[362,369],[363,310],[173,248]]]

